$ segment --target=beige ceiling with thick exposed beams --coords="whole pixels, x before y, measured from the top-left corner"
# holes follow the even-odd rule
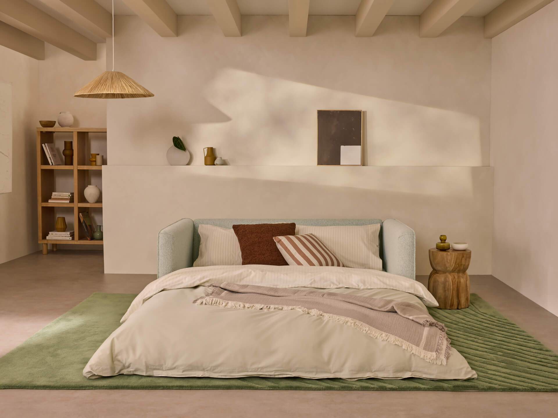
[[[178,15],[213,15],[224,36],[242,36],[242,15],[288,15],[286,36],[306,36],[309,15],[355,16],[355,36],[374,36],[385,16],[420,16],[421,37],[443,35],[462,16],[484,17],[492,38],[554,0],[114,0],[163,37]],[[0,45],[44,59],[44,42],[84,60],[111,33],[111,0],[0,0]],[[43,52],[41,54],[41,45]],[[41,58],[42,57],[42,58]]]

